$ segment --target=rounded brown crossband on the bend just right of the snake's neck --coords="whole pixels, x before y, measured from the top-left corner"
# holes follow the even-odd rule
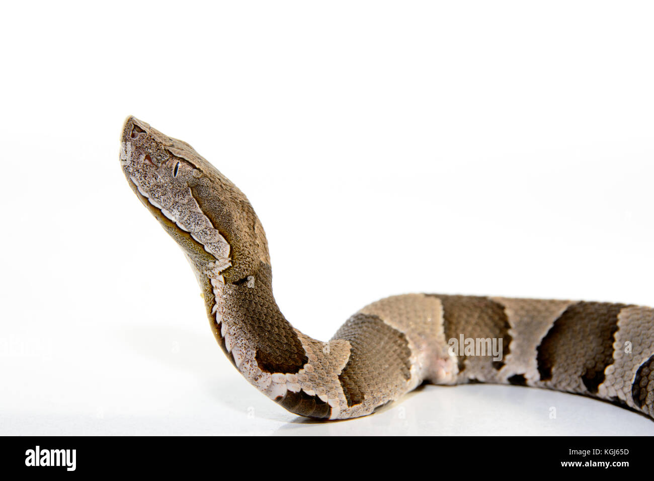
[[[411,378],[411,349],[404,333],[376,315],[354,314],[334,339],[346,339],[352,347],[338,376],[348,406],[362,403],[368,393],[402,389]]]

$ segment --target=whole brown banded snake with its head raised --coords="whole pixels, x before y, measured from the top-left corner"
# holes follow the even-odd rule
[[[322,342],[295,329],[275,302],[264,228],[232,181],[134,116],[122,128],[120,164],[190,263],[228,359],[293,414],[357,418],[424,383],[501,383],[585,395],[654,419],[653,308],[402,294],[362,308]]]

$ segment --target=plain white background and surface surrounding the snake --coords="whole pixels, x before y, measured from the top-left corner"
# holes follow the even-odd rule
[[[654,305],[653,13],[5,5],[0,434],[654,434],[608,403],[490,385],[303,421],[224,357],[118,162],[129,114],[213,162],[266,228],[281,309],[318,339],[398,293]]]

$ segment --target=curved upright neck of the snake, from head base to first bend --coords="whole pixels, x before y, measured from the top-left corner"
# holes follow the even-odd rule
[[[207,279],[207,311],[216,340],[237,370],[291,412],[314,418],[347,416],[338,376],[349,360],[350,343],[320,342],[294,329],[273,298],[266,262],[243,281],[222,279]]]

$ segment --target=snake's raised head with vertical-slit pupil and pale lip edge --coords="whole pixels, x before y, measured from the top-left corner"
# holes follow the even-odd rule
[[[132,190],[181,245],[196,274],[238,281],[269,264],[266,235],[243,192],[188,143],[129,116],[120,164]]]

